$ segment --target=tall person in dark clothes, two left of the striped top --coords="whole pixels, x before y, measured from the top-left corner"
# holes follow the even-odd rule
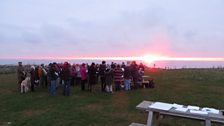
[[[100,64],[99,67],[99,75],[100,75],[100,81],[101,81],[101,91],[105,91],[106,83],[105,83],[105,70],[106,70],[106,61],[102,61],[102,64]]]

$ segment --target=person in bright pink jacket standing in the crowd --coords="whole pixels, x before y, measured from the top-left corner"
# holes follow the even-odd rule
[[[81,90],[85,90],[85,85],[87,82],[87,69],[85,64],[83,63],[80,67],[80,74],[81,74]]]

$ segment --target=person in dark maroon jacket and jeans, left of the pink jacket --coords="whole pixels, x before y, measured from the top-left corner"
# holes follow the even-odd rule
[[[71,67],[68,62],[65,62],[62,67],[62,80],[63,84],[63,95],[69,96],[70,95],[70,85],[71,85]]]

